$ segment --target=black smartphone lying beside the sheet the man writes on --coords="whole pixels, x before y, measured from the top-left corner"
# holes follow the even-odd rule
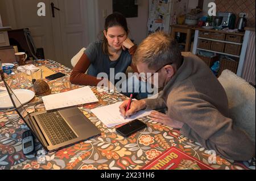
[[[117,131],[119,134],[121,134],[124,137],[129,137],[131,134],[146,127],[147,125],[145,123],[143,123],[138,119],[135,119],[125,125],[122,125],[119,128],[116,128],[115,131]]]

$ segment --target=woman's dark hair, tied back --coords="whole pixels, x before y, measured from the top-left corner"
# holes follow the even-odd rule
[[[105,31],[108,31],[108,28],[111,28],[114,26],[122,27],[123,30],[125,30],[128,35],[129,30],[127,27],[126,18],[119,12],[114,12],[113,14],[110,14],[105,19],[105,26],[104,26]],[[109,53],[108,46],[109,46],[108,39],[106,39],[106,37],[103,35],[103,45],[102,45],[103,52],[105,54],[108,54],[109,56],[112,56],[112,54]]]

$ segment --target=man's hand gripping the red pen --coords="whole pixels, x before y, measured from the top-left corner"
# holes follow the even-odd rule
[[[130,109],[126,112],[128,102],[129,100],[125,100],[125,102],[123,102],[121,106],[119,106],[119,111],[122,113],[123,116],[126,115],[127,117],[129,117],[131,115],[134,115],[136,112],[144,110],[146,108],[146,102],[144,100],[133,100],[131,102]]]

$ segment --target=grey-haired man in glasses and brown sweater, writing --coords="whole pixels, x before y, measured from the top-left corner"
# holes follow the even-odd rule
[[[169,35],[156,32],[139,45],[133,57],[144,81],[163,87],[156,99],[127,101],[119,107],[123,115],[139,110],[167,108],[166,115],[152,111],[152,120],[179,128],[181,134],[228,159],[247,161],[255,154],[247,134],[233,125],[224,88],[208,66],[190,52],[181,52]],[[148,76],[151,73],[151,76]],[[154,76],[152,76],[154,74]],[[158,75],[158,82],[152,77]]]

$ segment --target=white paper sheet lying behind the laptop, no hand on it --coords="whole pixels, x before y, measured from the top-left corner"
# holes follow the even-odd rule
[[[47,111],[76,106],[79,104],[98,102],[98,99],[88,86],[59,94],[47,95],[42,99]]]

